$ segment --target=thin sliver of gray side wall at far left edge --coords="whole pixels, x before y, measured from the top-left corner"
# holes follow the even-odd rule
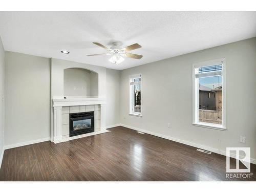
[[[2,44],[2,39],[0,37],[0,167],[1,167],[1,158],[2,152],[4,148],[4,118],[5,118],[5,103],[2,99],[4,97],[4,90],[5,90],[5,51]]]

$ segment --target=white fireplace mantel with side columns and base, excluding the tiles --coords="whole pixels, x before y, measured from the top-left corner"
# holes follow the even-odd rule
[[[60,98],[58,96],[53,97],[53,109],[54,109],[54,136],[53,136],[53,142],[54,143],[60,143],[63,141],[75,139],[75,137],[72,138],[65,138],[62,139],[61,134],[61,110],[62,106],[80,106],[80,105],[100,105],[100,131],[89,133],[89,134],[83,134],[79,137],[86,137],[91,136],[99,133],[104,133],[106,131],[105,127],[105,104],[106,100],[105,98],[67,98],[64,99],[63,97]]]

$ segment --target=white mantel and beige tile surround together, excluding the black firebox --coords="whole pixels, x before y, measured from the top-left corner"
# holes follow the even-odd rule
[[[105,99],[68,98],[53,99],[54,137],[53,142],[65,142],[80,137],[109,132],[105,129]],[[94,111],[94,132],[78,136],[69,136],[69,114]]]

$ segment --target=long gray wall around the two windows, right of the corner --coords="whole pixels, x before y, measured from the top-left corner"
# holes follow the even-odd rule
[[[255,159],[255,53],[254,37],[121,71],[121,123],[222,151],[226,147],[251,147],[251,158]],[[224,57],[227,131],[193,126],[192,65]],[[129,75],[138,73],[142,74],[142,117],[128,114]],[[240,136],[246,137],[246,143],[240,143]]]

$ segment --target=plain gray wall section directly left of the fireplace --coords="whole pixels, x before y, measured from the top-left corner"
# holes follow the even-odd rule
[[[49,59],[5,53],[5,145],[49,138]]]

